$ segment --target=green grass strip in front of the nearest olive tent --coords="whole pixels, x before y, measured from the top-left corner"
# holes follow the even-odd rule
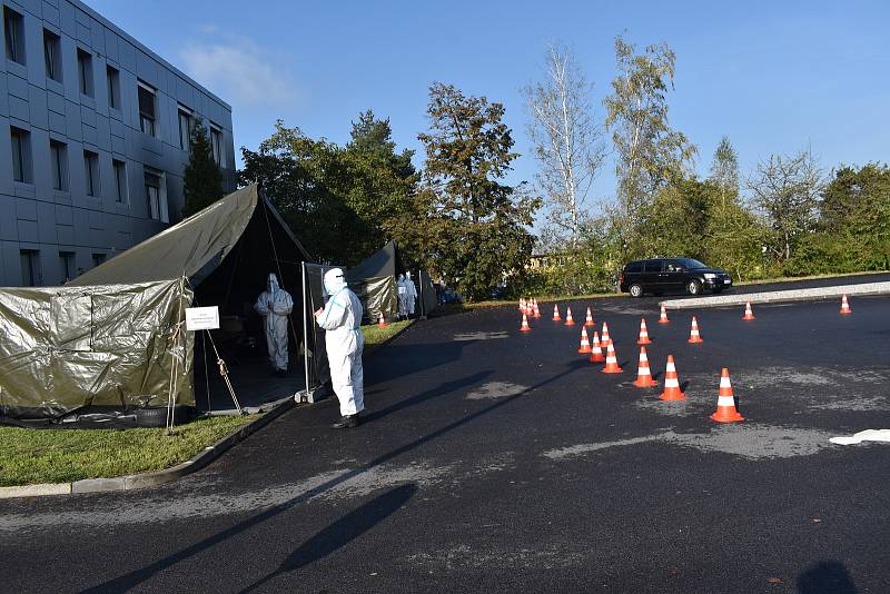
[[[160,471],[186,462],[259,418],[216,416],[176,427],[27,429],[0,427],[0,486],[69,483]]]

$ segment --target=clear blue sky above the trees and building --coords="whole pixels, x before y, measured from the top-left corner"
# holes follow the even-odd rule
[[[419,165],[427,89],[442,81],[505,105],[525,155],[511,180],[532,180],[520,88],[540,77],[547,42],[574,48],[600,106],[613,38],[626,30],[641,48],[666,41],[676,52],[671,123],[698,146],[702,175],[723,135],[742,175],[807,147],[827,168],[890,160],[887,1],[87,3],[231,103],[236,151],[256,148],[278,118],[343,143],[370,108]],[[611,171],[596,196],[613,192]]]

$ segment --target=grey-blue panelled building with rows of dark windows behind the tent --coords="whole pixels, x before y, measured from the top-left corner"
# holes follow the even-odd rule
[[[0,3],[0,286],[59,285],[178,220],[196,118],[235,188],[225,101],[82,2]]]

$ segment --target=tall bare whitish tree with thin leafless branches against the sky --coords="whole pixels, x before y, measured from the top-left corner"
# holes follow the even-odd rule
[[[592,92],[593,83],[572,50],[557,43],[547,48],[543,80],[523,89],[547,235],[561,244],[555,247],[576,247],[590,218],[587,194],[605,157],[605,132],[596,121]]]

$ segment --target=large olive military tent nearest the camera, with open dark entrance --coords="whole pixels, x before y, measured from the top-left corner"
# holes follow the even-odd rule
[[[62,287],[0,288],[0,418],[195,406],[194,333],[184,309],[247,315],[268,273],[294,297],[304,341],[309,256],[254,184]],[[312,318],[308,318],[312,320]],[[309,326],[310,327],[310,326]],[[318,334],[307,384],[327,380]]]

